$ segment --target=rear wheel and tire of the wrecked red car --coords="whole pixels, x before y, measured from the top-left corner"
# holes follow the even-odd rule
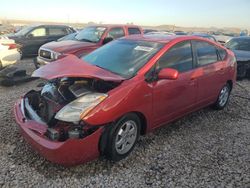
[[[230,93],[231,93],[231,86],[227,83],[226,85],[224,85],[219,93],[219,96],[217,98],[217,101],[215,102],[215,104],[213,105],[213,108],[216,110],[222,110],[223,108],[226,107],[229,97],[230,97]],[[224,94],[224,98],[223,98],[223,90],[226,90],[226,92],[228,92],[228,94]]]

